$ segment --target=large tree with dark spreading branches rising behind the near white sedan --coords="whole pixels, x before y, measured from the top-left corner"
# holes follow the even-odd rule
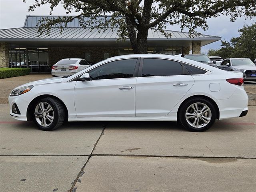
[[[26,0],[23,0],[26,2]],[[65,25],[79,18],[83,27],[100,28],[119,26],[119,38],[130,39],[134,53],[147,53],[148,30],[164,32],[167,24],[179,24],[181,30],[188,28],[190,37],[197,35],[196,28],[208,29],[206,20],[220,15],[230,16],[234,21],[237,17],[256,16],[255,0],[35,0],[29,8],[50,4],[50,14],[53,9],[62,5],[66,14],[75,11],[76,16],[58,17],[56,19],[42,19],[39,34],[49,33],[50,28]],[[111,15],[110,19],[98,16]],[[90,17],[85,21],[84,17]]]

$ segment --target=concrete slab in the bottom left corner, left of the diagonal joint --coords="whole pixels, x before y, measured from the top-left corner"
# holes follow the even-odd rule
[[[1,156],[1,192],[67,192],[88,156]]]

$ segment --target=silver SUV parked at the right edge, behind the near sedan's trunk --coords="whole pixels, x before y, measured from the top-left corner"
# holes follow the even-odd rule
[[[227,58],[222,61],[218,68],[242,72],[245,80],[256,80],[256,64],[248,58]]]

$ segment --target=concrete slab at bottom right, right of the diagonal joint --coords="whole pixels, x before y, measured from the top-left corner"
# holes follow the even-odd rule
[[[76,192],[253,192],[255,159],[91,157]]]

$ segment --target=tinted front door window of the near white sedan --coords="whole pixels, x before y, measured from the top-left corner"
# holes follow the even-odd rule
[[[136,61],[137,59],[124,59],[106,63],[90,70],[90,78],[92,80],[130,78],[134,74]]]

